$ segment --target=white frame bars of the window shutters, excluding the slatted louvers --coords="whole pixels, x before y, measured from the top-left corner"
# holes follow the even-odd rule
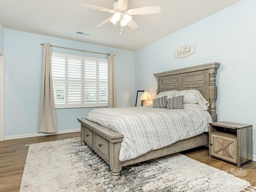
[[[108,102],[100,102],[99,101],[99,63],[107,63],[107,59],[102,58],[92,58],[92,57],[84,57],[84,56],[77,56],[77,55],[70,55],[70,54],[61,54],[61,53],[52,53],[52,57],[59,57],[59,58],[65,58],[65,80],[56,80],[53,79],[53,81],[64,81],[65,82],[65,103],[64,104],[58,104],[55,103],[55,108],[85,108],[85,107],[106,107],[108,106]],[[68,59],[77,59],[81,60],[81,103],[79,104],[70,104],[68,103]],[[97,84],[97,99],[96,103],[85,103],[85,67],[84,67],[84,61],[90,60],[97,63],[97,73],[96,73],[96,84]],[[74,81],[74,80],[72,80]]]

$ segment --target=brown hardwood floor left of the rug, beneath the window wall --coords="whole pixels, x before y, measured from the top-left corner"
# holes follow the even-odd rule
[[[19,192],[22,174],[32,143],[80,137],[80,132],[5,140],[0,142],[0,192]]]

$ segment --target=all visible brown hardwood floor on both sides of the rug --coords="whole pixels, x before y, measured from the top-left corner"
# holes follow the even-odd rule
[[[28,146],[32,143],[62,140],[67,138],[80,137],[80,132],[56,134],[49,136],[39,136],[31,138],[21,138],[0,142],[0,191],[19,192],[22,174],[26,162]],[[256,162],[242,164],[241,168],[236,165],[224,162],[216,158],[208,157],[208,148],[201,147],[182,152],[186,156],[208,164],[220,170],[224,170],[244,178],[256,186]]]

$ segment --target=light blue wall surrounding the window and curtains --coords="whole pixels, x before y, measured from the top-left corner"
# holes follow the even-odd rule
[[[40,102],[42,46],[53,45],[114,53],[118,107],[134,104],[134,52],[16,30],[4,29],[5,136],[37,133]],[[106,58],[106,55],[53,48],[53,52]],[[56,109],[58,130],[80,128],[76,118],[93,108]]]

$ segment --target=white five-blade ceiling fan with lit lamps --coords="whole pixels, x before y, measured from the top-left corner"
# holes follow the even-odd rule
[[[134,22],[134,20],[132,20],[131,15],[153,14],[161,12],[160,6],[141,7],[128,10],[128,0],[118,0],[118,2],[115,2],[112,5],[113,10],[84,3],[81,3],[81,6],[89,9],[114,13],[113,16],[102,21],[100,24],[97,25],[97,27],[102,27],[109,22],[112,22],[114,25],[116,25],[116,23],[120,21],[121,27],[128,25],[130,28],[136,29],[138,28],[138,25],[136,24],[136,22]]]

